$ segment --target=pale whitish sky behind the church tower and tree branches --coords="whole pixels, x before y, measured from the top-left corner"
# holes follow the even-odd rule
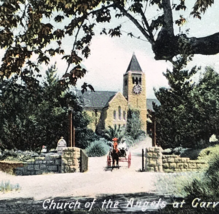
[[[172,0],[177,3],[178,0]],[[189,30],[189,37],[207,36],[216,32],[219,32],[219,25],[216,20],[219,20],[219,1],[215,1],[213,7],[209,8],[207,12],[202,16],[202,19],[194,19],[190,16],[189,12],[195,1],[186,1],[188,7],[185,12],[174,12],[173,19],[178,19],[179,15],[183,15],[187,22],[183,27],[175,28],[175,34],[179,33],[179,30]],[[147,18],[152,20],[156,18],[155,14],[161,14],[160,12],[151,10],[147,13]],[[112,20],[109,24],[98,25],[96,32],[103,27],[110,28],[122,23],[122,36],[111,38],[106,35],[100,35],[97,33],[91,42],[91,55],[88,59],[84,59],[82,65],[88,70],[88,73],[84,78],[77,82],[76,87],[80,89],[81,85],[86,82],[91,84],[96,91],[122,91],[123,87],[123,74],[126,72],[129,62],[133,53],[135,53],[138,62],[146,73],[146,91],[147,98],[155,98],[154,88],[158,90],[160,87],[168,87],[168,82],[163,76],[163,72],[166,69],[171,69],[171,64],[164,61],[156,61],[151,49],[151,45],[147,42],[139,30],[128,20],[124,18],[122,20]],[[130,38],[127,36],[128,32],[133,32],[135,36],[140,36],[141,39]],[[67,37],[63,42],[63,48],[65,54],[69,54],[74,42],[74,38]],[[3,56],[4,50],[0,51],[0,57]],[[62,76],[65,73],[67,64],[64,60],[61,60],[62,56],[55,56],[51,59],[50,65],[57,63],[58,74]],[[193,61],[188,65],[188,68],[197,65],[212,66],[219,71],[219,56],[202,56],[195,55]],[[47,69],[46,65],[41,66],[42,72]],[[198,79],[198,77],[197,77]]]

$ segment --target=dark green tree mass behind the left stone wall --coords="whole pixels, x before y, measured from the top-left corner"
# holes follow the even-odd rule
[[[35,77],[31,85],[16,76],[1,81],[0,147],[40,150],[42,145],[47,145],[49,149],[55,148],[61,136],[68,139],[69,106],[74,109],[76,129],[86,131],[89,121],[82,113],[80,101],[67,86],[60,84],[55,72],[56,67],[50,67],[45,79],[40,79],[41,84]]]

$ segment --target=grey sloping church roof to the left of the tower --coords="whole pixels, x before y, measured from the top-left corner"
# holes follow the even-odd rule
[[[116,95],[114,91],[85,91],[83,94],[77,90],[77,95],[84,101],[85,108],[102,109],[108,105]]]

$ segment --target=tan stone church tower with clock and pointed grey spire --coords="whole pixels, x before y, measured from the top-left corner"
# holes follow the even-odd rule
[[[127,71],[123,75],[123,95],[130,108],[140,111],[140,118],[143,123],[142,130],[146,132],[146,78],[135,54],[132,55]]]

